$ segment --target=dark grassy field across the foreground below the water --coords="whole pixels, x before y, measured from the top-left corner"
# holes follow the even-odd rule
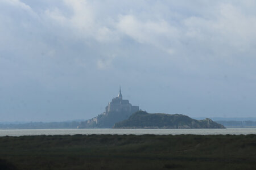
[[[0,169],[256,169],[256,135],[0,137]]]

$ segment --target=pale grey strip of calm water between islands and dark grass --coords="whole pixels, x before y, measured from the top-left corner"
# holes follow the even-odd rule
[[[230,129],[2,129],[0,136],[22,135],[75,135],[75,134],[256,134],[256,128],[230,128]]]

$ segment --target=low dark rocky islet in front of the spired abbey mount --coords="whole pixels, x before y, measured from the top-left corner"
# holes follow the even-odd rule
[[[195,120],[183,114],[150,114],[145,111],[138,111],[132,114],[127,120],[118,122],[114,128],[120,129],[216,129],[225,128],[221,124],[206,118]]]

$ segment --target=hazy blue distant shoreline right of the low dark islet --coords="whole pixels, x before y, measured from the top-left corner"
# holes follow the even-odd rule
[[[226,128],[256,128],[256,121],[215,121]]]

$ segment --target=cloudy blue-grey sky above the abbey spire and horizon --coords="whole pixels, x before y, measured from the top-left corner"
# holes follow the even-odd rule
[[[0,122],[256,117],[256,1],[0,0]]]

